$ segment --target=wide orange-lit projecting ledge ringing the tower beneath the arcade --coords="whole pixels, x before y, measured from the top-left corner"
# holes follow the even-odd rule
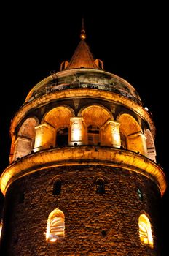
[[[162,168],[141,154],[106,146],[66,146],[37,151],[13,162],[1,174],[1,191],[5,194],[13,181],[30,173],[66,165],[104,165],[116,167],[114,171],[120,167],[150,178],[157,184],[161,195],[166,189]]]

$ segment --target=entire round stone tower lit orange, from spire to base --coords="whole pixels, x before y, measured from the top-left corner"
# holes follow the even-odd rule
[[[1,255],[160,255],[152,116],[81,40],[12,119]]]

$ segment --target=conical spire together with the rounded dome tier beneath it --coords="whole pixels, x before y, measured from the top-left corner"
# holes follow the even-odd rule
[[[60,72],[52,72],[50,76],[34,86],[25,99],[25,104],[54,91],[67,89],[98,89],[111,91],[141,104],[141,99],[126,80],[106,72],[103,61],[94,59],[87,45],[84,23],[80,34],[80,42],[70,61],[60,64]]]

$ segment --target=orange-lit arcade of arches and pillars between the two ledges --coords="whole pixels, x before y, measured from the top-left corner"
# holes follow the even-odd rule
[[[111,93],[109,94],[111,96]],[[30,118],[31,115],[36,116],[39,121],[36,121],[37,125],[34,124],[32,127],[34,132],[29,132],[27,135],[23,124],[28,123],[30,126],[30,120],[34,120],[34,118]],[[87,127],[93,124],[99,127],[101,131],[101,146],[120,148],[119,132],[122,130],[125,132],[127,149],[140,152],[155,162],[155,156],[152,154],[152,143],[150,143],[150,140],[153,142],[152,133],[149,130],[149,124],[144,121],[144,116],[141,118],[130,108],[109,102],[106,99],[82,98],[74,102],[73,98],[64,98],[60,100],[59,104],[52,102],[51,105],[44,105],[42,109],[30,111],[28,118],[25,115],[25,123],[22,124],[20,121],[18,125],[24,127],[24,135],[26,136],[22,140],[20,139],[20,129],[16,129],[13,135],[15,138],[12,139],[11,145],[11,159],[13,161],[17,157],[25,156],[26,152],[30,154],[32,149],[36,152],[51,146],[55,147],[57,144],[56,133],[61,127],[68,128],[68,145],[72,146],[74,143],[87,145]],[[144,131],[146,131],[145,135]],[[30,141],[29,144],[34,145],[33,148],[28,144],[28,141]],[[150,144],[151,146],[149,146]],[[24,152],[20,148],[23,148]]]

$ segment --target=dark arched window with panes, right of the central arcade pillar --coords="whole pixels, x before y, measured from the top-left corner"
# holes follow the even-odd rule
[[[96,125],[87,127],[87,141],[88,145],[98,145],[101,143],[100,129]]]

